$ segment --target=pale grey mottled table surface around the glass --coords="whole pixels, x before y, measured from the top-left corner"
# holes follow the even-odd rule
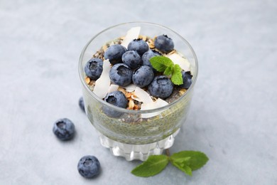
[[[0,184],[277,184],[277,1],[0,1]],[[85,43],[117,23],[172,28],[200,70],[188,121],[170,152],[210,161],[187,176],[174,166],[139,178],[139,162],[112,157],[77,105]],[[67,117],[77,135],[60,142]],[[98,157],[87,180],[77,162]]]

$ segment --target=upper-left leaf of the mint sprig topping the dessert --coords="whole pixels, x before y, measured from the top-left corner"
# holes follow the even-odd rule
[[[164,72],[166,68],[174,65],[173,61],[165,56],[154,56],[149,61],[158,72]]]

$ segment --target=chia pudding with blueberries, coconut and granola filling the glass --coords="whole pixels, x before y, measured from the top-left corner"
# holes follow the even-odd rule
[[[126,30],[128,33],[125,35],[112,38],[112,41],[103,41],[96,50],[97,46],[94,46],[92,57],[82,60],[80,76],[85,85],[85,110],[92,125],[109,139],[125,144],[150,144],[169,137],[185,122],[192,98],[191,88],[196,80],[195,65],[191,65],[188,58],[178,52],[179,48],[174,47],[170,33],[149,36],[146,32],[138,34],[131,29]],[[143,28],[139,29],[143,31]],[[173,46],[169,46],[172,43]],[[112,48],[115,52],[111,52]],[[151,57],[147,58],[148,53]],[[173,73],[165,75],[165,72],[154,68],[149,60],[155,56],[170,58],[173,63],[179,60],[181,67],[186,66],[180,70],[183,83],[173,84],[170,81]],[[114,68],[115,73],[112,72]],[[124,71],[120,72],[120,68]],[[135,73],[143,74],[146,70],[150,71],[147,75],[134,78]],[[132,75],[131,83],[129,77],[120,79],[121,75],[129,73]],[[157,86],[154,82],[159,79],[165,85],[170,84],[169,88],[161,90],[161,85]]]

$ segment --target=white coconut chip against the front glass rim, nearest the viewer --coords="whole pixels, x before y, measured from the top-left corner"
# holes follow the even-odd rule
[[[168,105],[168,102],[165,102],[165,100],[162,100],[161,98],[158,98],[155,102],[141,104],[141,110],[156,109],[156,108],[159,108],[159,107],[164,107],[165,105]],[[141,114],[141,118],[153,117],[153,116],[161,114],[161,112],[162,111]]]

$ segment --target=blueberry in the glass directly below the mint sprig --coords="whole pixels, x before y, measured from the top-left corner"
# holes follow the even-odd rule
[[[148,85],[148,91],[154,97],[165,98],[173,92],[173,83],[166,76],[159,75]]]

